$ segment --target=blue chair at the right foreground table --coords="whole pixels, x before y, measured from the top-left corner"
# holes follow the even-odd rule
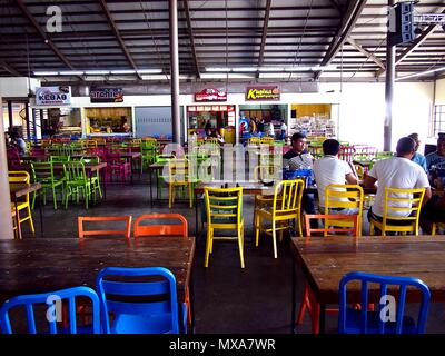
[[[368,284],[375,283],[380,285],[380,303],[378,304],[377,312],[368,312],[364,307],[362,307],[362,310],[356,310],[347,306],[347,284],[353,280],[362,283],[362,306],[368,305]],[[382,300],[382,297],[389,295],[388,286],[397,286],[398,290],[395,296],[393,295],[395,298],[394,300],[397,300],[396,310],[394,310],[395,320],[390,320],[389,318],[385,322],[384,319],[388,317],[387,312],[389,312],[392,304],[387,304],[385,300]],[[412,317],[405,315],[406,293],[408,286],[415,287],[422,293],[417,324]],[[415,291],[417,293],[418,290]],[[393,293],[393,290],[389,291]],[[428,287],[421,279],[413,277],[379,276],[362,271],[353,271],[346,274],[342,278],[339,283],[339,334],[423,334],[425,332],[431,293]]]

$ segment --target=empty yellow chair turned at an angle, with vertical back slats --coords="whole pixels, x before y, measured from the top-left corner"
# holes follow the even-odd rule
[[[299,236],[301,231],[301,198],[305,189],[305,181],[301,179],[283,180],[275,186],[274,201],[271,207],[257,208],[255,211],[255,246],[258,246],[259,233],[271,235],[274,241],[274,257],[277,258],[276,234],[289,229],[289,221],[298,224]],[[271,221],[271,227],[266,228],[265,221]]]

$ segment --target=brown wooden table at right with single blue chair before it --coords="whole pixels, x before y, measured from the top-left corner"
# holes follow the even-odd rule
[[[296,318],[296,265],[320,304],[320,332],[325,326],[327,304],[338,305],[338,285],[349,271],[367,271],[388,276],[422,279],[432,294],[432,301],[445,301],[445,239],[432,236],[372,237],[296,237],[291,239],[291,332]],[[359,286],[348,287],[352,298],[359,301]],[[378,293],[372,288],[370,293]],[[412,298],[415,298],[412,295]],[[354,300],[353,300],[354,301]],[[408,301],[417,301],[408,299]]]

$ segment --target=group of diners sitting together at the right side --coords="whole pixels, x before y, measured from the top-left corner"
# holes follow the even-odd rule
[[[316,160],[306,150],[306,145],[307,138],[304,134],[294,134],[291,150],[283,156],[283,165],[290,170],[313,169],[319,211],[325,212],[325,189],[329,185],[360,185],[364,188],[375,189],[374,202],[367,215],[369,221],[370,219],[383,220],[386,187],[397,189],[421,188],[425,189],[419,219],[423,233],[431,234],[433,222],[445,221],[445,196],[442,195],[442,180],[431,174],[433,172],[432,166],[437,166],[441,161],[445,164],[445,135],[439,135],[437,150],[426,157],[417,152],[419,146],[417,134],[402,137],[397,141],[395,155],[375,161],[363,179],[358,178],[355,165],[352,161],[339,159],[340,144],[338,140],[326,139],[323,142],[323,157]],[[316,214],[315,200],[314,194],[305,194],[303,208],[306,214]],[[350,208],[336,209],[336,211],[329,212],[357,214],[356,209]],[[396,211],[392,214],[397,218],[409,212]],[[393,224],[396,220],[389,222]]]

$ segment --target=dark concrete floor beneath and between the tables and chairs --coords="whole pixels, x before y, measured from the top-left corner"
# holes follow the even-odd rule
[[[168,201],[149,204],[147,177],[137,178],[134,186],[112,184],[107,186],[107,199],[85,209],[82,204],[70,204],[68,209],[53,210],[51,204],[43,208],[44,236],[77,237],[77,216],[132,215],[136,218],[150,212],[179,212],[189,222],[189,235],[195,235],[195,209],[186,202],[176,202],[168,209]],[[155,189],[154,189],[155,192]],[[167,198],[164,190],[162,198]],[[244,198],[245,263],[239,265],[237,244],[215,241],[209,267],[204,268],[204,238],[198,239],[194,265],[195,313],[197,334],[289,334],[290,333],[290,279],[291,257],[289,241],[278,244],[278,258],[273,257],[271,239],[263,236],[255,247],[251,227],[253,198]],[[40,236],[39,210],[33,210],[37,238]],[[364,219],[365,220],[365,219]],[[24,224],[26,225],[26,224]],[[367,229],[367,221],[364,225]],[[202,231],[205,234],[205,231]],[[23,227],[24,237],[31,237]],[[202,235],[205,236],[205,235]],[[301,299],[303,276],[297,274],[297,300]],[[445,291],[444,291],[445,293]],[[326,333],[336,333],[337,317],[327,316]],[[444,333],[445,308],[432,304],[427,333]],[[310,320],[297,327],[297,333],[310,333]]]

